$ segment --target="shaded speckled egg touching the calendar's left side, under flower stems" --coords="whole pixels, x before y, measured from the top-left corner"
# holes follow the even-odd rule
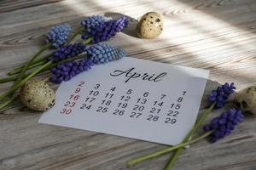
[[[41,80],[32,80],[20,88],[21,102],[34,111],[47,111],[55,105],[55,92]]]

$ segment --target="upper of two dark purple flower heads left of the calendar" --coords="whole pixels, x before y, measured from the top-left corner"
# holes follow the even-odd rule
[[[83,43],[74,43],[69,44],[65,47],[58,48],[52,55],[48,58],[48,60],[52,60],[55,63],[63,59],[72,58],[78,54],[81,54],[85,51],[86,46]]]

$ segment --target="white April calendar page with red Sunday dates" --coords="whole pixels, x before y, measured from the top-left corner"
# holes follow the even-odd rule
[[[39,122],[178,144],[195,124],[208,74],[129,57],[95,65],[61,83]]]

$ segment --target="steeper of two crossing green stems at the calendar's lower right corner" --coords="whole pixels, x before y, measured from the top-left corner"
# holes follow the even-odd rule
[[[193,127],[190,132],[187,134],[187,136],[185,137],[185,139],[183,139],[183,142],[187,142],[189,141],[190,137],[192,137],[192,135],[195,133],[196,130],[198,130],[202,123],[206,121],[207,116],[209,116],[209,114],[212,112],[212,110],[214,109],[216,103],[213,103],[208,109],[207,111],[204,112],[203,116],[201,116],[201,119],[195,123],[195,127]],[[174,165],[174,162],[177,160],[177,157],[183,152],[183,148],[180,148],[178,150],[175,151],[174,155],[172,156],[171,160],[166,164],[166,170],[170,170],[172,169],[172,166]]]

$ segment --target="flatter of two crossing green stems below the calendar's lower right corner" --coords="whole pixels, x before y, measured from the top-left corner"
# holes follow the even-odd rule
[[[185,142],[185,143],[182,143],[182,144],[177,144],[177,145],[175,145],[175,146],[168,147],[168,148],[166,148],[166,149],[156,151],[156,152],[154,152],[154,153],[152,153],[152,154],[148,154],[148,155],[146,155],[146,156],[139,156],[139,157],[137,157],[137,158],[135,158],[135,159],[132,159],[132,160],[130,160],[130,161],[127,161],[127,162],[126,162],[126,166],[127,166],[127,167],[131,167],[131,166],[133,166],[133,165],[135,165],[135,164],[137,164],[137,163],[139,163],[139,162],[141,162],[141,161],[146,161],[146,160],[148,160],[148,159],[152,159],[152,158],[154,158],[154,157],[164,155],[164,154],[166,154],[166,153],[171,152],[172,150],[177,150],[178,148],[184,147],[184,146],[186,146],[186,145],[188,145],[188,144],[194,144],[194,143],[198,142],[199,140],[206,138],[206,137],[209,136],[211,133],[212,133],[212,131],[207,132],[207,133],[204,133],[204,134],[201,135],[200,137],[198,137],[198,138],[196,138],[196,139],[193,139],[193,140],[190,140],[189,142]]]

